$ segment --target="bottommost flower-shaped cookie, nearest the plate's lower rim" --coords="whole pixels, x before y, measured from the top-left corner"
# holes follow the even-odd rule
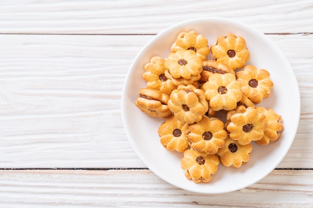
[[[208,155],[205,152],[197,152],[187,149],[183,152],[180,166],[185,170],[185,177],[195,183],[208,183],[212,175],[216,174],[219,164],[217,155]]]

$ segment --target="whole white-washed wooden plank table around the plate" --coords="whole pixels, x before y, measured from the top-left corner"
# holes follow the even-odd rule
[[[180,190],[149,171],[120,111],[141,47],[203,16],[265,33],[289,60],[301,96],[297,134],[277,168],[218,195]],[[312,207],[312,48],[312,0],[1,0],[0,208]]]

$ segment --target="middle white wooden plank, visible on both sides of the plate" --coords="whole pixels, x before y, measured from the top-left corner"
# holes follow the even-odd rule
[[[300,125],[278,168],[313,168],[313,35],[268,36],[301,94]],[[123,130],[120,95],[152,37],[0,35],[0,168],[145,167]]]

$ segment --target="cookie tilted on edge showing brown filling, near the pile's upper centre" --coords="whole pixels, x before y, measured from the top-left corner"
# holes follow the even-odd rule
[[[211,74],[225,74],[231,73],[235,75],[234,71],[226,64],[220,63],[218,61],[209,60],[203,61],[203,70],[201,72],[201,78],[199,80],[200,83],[204,83],[208,81],[208,77]]]

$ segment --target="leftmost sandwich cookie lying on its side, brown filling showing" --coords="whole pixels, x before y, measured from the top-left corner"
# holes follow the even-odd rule
[[[141,88],[135,105],[149,116],[166,118],[172,114],[167,107],[168,100],[169,96],[158,90]]]

